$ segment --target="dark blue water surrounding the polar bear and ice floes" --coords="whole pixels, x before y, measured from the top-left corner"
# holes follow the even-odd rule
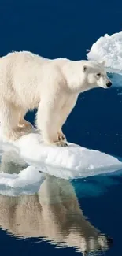
[[[121,9],[120,0],[116,2],[1,0],[0,55],[5,55],[12,50],[30,50],[47,58],[85,59],[86,50],[90,49],[92,43],[100,36],[105,33],[112,35],[120,32]],[[122,157],[122,95],[120,95],[122,89],[117,87],[117,76],[114,85],[116,87],[109,90],[96,89],[79,95],[76,107],[64,125],[68,141]],[[34,114],[27,115],[31,122],[34,120]],[[54,188],[53,194],[51,194],[52,190],[46,187],[47,193],[45,191],[43,194],[46,200],[51,197],[56,198],[55,193],[58,188],[63,190],[67,185],[74,189],[74,192],[71,195],[66,195],[64,192],[65,199],[56,200],[53,205],[49,204],[50,214],[45,220],[42,217],[42,211],[39,210],[37,195],[32,198],[34,201],[31,201],[30,196],[13,200],[11,197],[5,198],[0,195],[0,254],[10,256],[77,254],[74,246],[67,248],[62,246],[56,249],[55,245],[50,243],[52,236],[48,239],[39,237],[42,236],[43,229],[51,230],[51,223],[54,223],[55,229],[52,228],[55,230],[54,236],[58,237],[59,232],[62,234],[63,242],[72,233],[73,245],[75,245],[74,241],[79,239],[80,246],[82,237],[85,237],[88,244],[92,224],[102,234],[113,238],[113,246],[105,252],[105,255],[120,256],[122,253],[121,173],[94,176],[86,180],[69,181],[66,184],[62,180],[60,186],[58,182],[59,180],[56,179],[57,188]],[[17,220],[17,209],[19,213],[20,209],[24,210],[23,200],[31,201],[30,207],[25,203],[23,219]],[[85,226],[86,222],[80,210],[83,210],[83,216],[87,217],[90,230]],[[32,216],[32,213],[33,215],[38,213],[37,217]],[[28,227],[26,227],[26,217],[30,220]],[[36,218],[39,218],[38,224],[35,224]],[[18,239],[19,235],[14,232],[17,227],[21,230],[21,236],[23,234],[22,239]],[[83,228],[82,232],[80,228]],[[25,236],[28,230],[29,238]],[[32,237],[34,233],[35,238]],[[37,241],[39,243],[35,243]]]

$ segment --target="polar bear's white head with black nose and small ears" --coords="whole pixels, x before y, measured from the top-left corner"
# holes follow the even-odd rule
[[[105,61],[87,61],[83,65],[83,73],[86,83],[91,87],[106,89],[112,86],[112,82],[105,71]]]

